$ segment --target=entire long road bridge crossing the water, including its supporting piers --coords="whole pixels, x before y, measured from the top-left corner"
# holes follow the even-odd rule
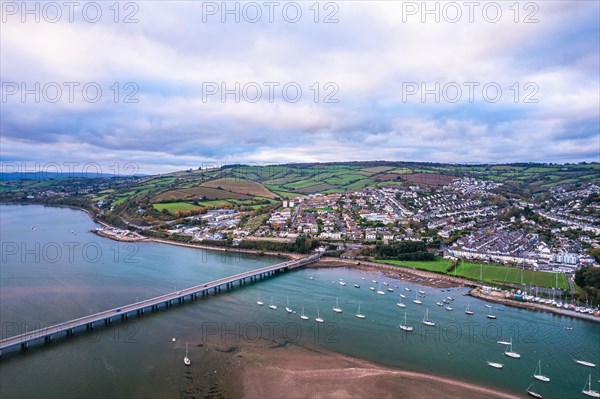
[[[161,306],[169,308],[173,303],[185,302],[186,298],[193,300],[198,297],[205,297],[210,293],[211,290],[216,294],[221,292],[222,288],[233,288],[236,283],[238,286],[242,286],[248,282],[271,277],[276,273],[296,269],[316,262],[321,258],[321,255],[321,253],[316,253],[305,258],[288,260],[275,265],[235,274],[233,276],[221,278],[118,308],[104,310],[102,312],[90,314],[88,316],[66,321],[64,323],[59,323],[49,327],[40,328],[38,330],[25,332],[20,335],[15,335],[0,341],[0,354],[3,350],[17,345],[20,345],[22,349],[27,349],[31,342],[37,340],[43,339],[45,343],[49,343],[54,337],[62,333],[66,333],[67,336],[71,336],[77,329],[82,329],[83,327],[85,327],[86,330],[91,330],[94,327],[94,323],[104,323],[109,325],[114,319],[120,318],[121,320],[126,320],[131,315],[142,315],[144,311],[147,310],[156,311]]]

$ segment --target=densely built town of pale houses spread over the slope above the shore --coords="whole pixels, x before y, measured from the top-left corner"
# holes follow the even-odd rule
[[[500,187],[465,178],[440,189],[392,186],[315,193],[283,199],[254,228],[244,222],[249,212],[227,207],[156,229],[190,242],[221,240],[231,246],[308,236],[352,259],[365,246],[415,241],[445,257],[513,267],[573,273],[580,266],[598,266],[589,249],[600,247],[600,187],[557,187],[538,204],[499,202],[494,190]]]

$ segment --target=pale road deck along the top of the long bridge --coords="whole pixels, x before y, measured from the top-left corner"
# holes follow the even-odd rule
[[[152,308],[154,306],[160,306],[161,304],[169,304],[173,300],[183,300],[186,296],[193,297],[195,294],[200,292],[208,292],[210,289],[220,290],[222,285],[233,284],[236,281],[242,281],[248,278],[257,277],[266,273],[275,272],[278,270],[289,270],[295,269],[300,266],[307,265],[309,263],[317,261],[321,257],[320,254],[314,254],[306,258],[289,260],[282,263],[277,263],[271,266],[265,266],[260,269],[249,270],[247,272],[235,274],[233,276],[224,277],[218,280],[214,280],[208,283],[199,284],[190,288],[171,292],[169,294],[157,296],[154,298],[146,299],[143,301],[135,302],[129,305],[120,306],[118,308],[104,310],[102,312],[94,313],[88,316],[80,317],[77,319],[69,320],[63,323],[55,324],[49,327],[44,327],[38,330],[25,332],[20,335],[15,335],[0,341],[0,351],[16,346],[16,345],[27,345],[29,342],[46,337],[52,337],[53,335],[62,332],[72,332],[73,329],[83,326],[91,326],[95,322],[111,320],[114,317],[128,317],[132,312],[143,311],[146,308]]]

